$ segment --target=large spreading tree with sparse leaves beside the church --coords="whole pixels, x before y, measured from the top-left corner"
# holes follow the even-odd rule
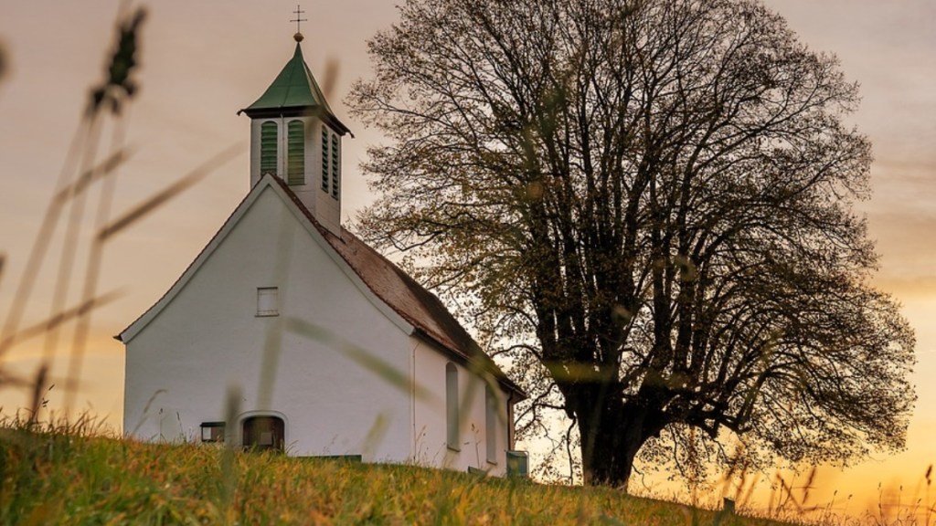
[[[558,393],[586,482],[699,436],[794,461],[903,446],[914,335],[869,285],[857,88],[778,15],[409,0],[370,52],[349,100],[389,142],[360,231],[545,382],[534,402]]]

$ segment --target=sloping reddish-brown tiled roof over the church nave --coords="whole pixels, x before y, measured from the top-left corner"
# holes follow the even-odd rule
[[[511,381],[492,359],[475,343],[468,331],[448,312],[434,294],[419,285],[409,274],[394,265],[367,243],[342,227],[341,237],[321,226],[300,198],[278,177],[280,185],[299,210],[309,219],[332,248],[342,256],[374,295],[409,322],[419,333],[441,346],[462,363],[477,361],[505,387],[526,398],[523,390]]]

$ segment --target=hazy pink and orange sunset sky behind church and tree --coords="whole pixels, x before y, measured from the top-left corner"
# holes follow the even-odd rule
[[[878,483],[902,481],[913,488],[936,461],[936,2],[932,0],[769,0],[815,51],[837,54],[850,80],[862,86],[863,103],[853,122],[873,145],[874,195],[862,203],[877,240],[881,270],[874,284],[903,305],[916,331],[914,374],[919,401],[907,450],[845,471],[825,469],[820,485],[877,498]],[[0,3],[0,46],[7,71],[0,78],[0,322],[7,315],[38,227],[80,119],[88,87],[103,77],[120,3]],[[249,119],[237,110],[251,104],[291,57],[293,1],[160,0],[149,8],[142,32],[141,90],[126,114],[125,144],[135,153],[120,169],[113,213],[132,208],[155,191],[231,146],[237,155],[182,197],[146,217],[106,246],[101,291],[121,296],[95,313],[92,343],[84,360],[80,408],[122,420],[123,345],[111,339],[154,303],[211,239],[248,190]],[[344,218],[373,196],[358,163],[381,140],[348,117],[344,96],[351,82],[370,73],[366,40],[397,19],[394,2],[306,2],[303,52],[320,84],[333,85],[332,110],[355,134],[344,139]],[[325,79],[326,64],[338,64]],[[110,149],[110,128],[101,152]],[[96,190],[86,221],[94,221]],[[49,314],[63,228],[50,255],[26,323]],[[80,253],[83,261],[84,253]],[[83,276],[79,266],[76,276]],[[76,280],[76,284],[79,280]],[[78,301],[73,285],[69,305]],[[70,328],[63,341],[70,341]],[[22,343],[4,367],[29,373],[42,352],[41,339]],[[53,375],[61,381],[65,360]],[[53,381],[56,381],[53,378]],[[22,389],[0,389],[5,413],[25,405]],[[52,389],[51,406],[62,403]],[[821,497],[820,497],[821,498]]]

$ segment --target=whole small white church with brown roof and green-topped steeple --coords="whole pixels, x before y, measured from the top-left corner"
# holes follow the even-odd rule
[[[251,190],[116,338],[124,432],[507,475],[525,394],[443,306],[341,225],[342,139],[296,51],[254,104]]]

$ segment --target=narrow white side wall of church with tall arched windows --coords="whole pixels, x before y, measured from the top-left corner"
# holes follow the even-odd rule
[[[454,362],[417,337],[411,338],[414,348],[414,377],[417,384],[432,393],[431,397],[417,399],[414,410],[416,434],[415,461],[419,464],[444,466],[457,471],[469,467],[486,470],[490,475],[506,475],[507,429],[505,411],[496,422],[497,462],[487,460],[485,384],[467,367]],[[446,364],[458,368],[461,416],[459,451],[446,444]],[[495,390],[498,406],[506,407],[506,395]]]

